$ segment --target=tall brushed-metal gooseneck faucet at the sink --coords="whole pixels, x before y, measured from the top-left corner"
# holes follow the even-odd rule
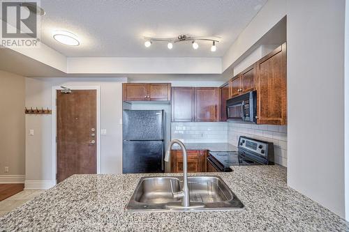
[[[180,192],[173,192],[173,196],[177,198],[181,198],[181,205],[184,207],[190,206],[190,197],[189,197],[189,187],[188,187],[188,164],[187,164],[187,155],[186,155],[186,146],[179,141],[178,139],[173,139],[170,141],[170,144],[168,144],[168,150],[166,151],[165,155],[165,162],[168,162],[170,160],[170,154],[171,154],[171,148],[173,144],[178,144],[181,147],[181,151],[183,153],[183,189]]]

